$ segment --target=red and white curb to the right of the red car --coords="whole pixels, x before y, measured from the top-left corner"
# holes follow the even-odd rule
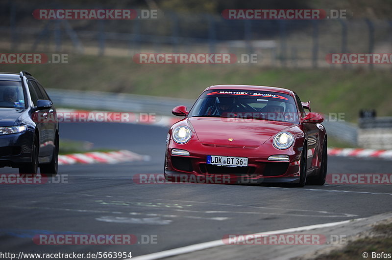
[[[392,150],[374,150],[363,148],[328,148],[328,155],[392,159]]]

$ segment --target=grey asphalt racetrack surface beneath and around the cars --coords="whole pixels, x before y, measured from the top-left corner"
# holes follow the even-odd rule
[[[1,185],[1,252],[132,252],[132,257],[221,239],[369,217],[392,211],[390,185],[290,188],[219,184],[138,184],[163,173],[164,127],[62,123],[60,138],[149,155],[147,162],[64,165],[68,183]],[[391,161],[329,157],[328,173],[391,173]],[[2,168],[1,173],[17,173]],[[133,245],[37,245],[39,234],[134,234]],[[142,235],[156,238],[143,244]],[[238,250],[242,250],[238,248]]]

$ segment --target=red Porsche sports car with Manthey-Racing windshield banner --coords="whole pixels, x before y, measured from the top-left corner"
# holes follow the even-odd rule
[[[309,104],[284,88],[207,87],[189,111],[172,110],[185,118],[169,130],[165,178],[323,185],[327,135],[323,117],[310,112]]]

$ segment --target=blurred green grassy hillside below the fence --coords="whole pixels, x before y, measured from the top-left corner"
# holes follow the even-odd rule
[[[126,92],[195,99],[214,84],[286,87],[310,100],[312,110],[346,113],[361,108],[392,116],[392,74],[387,70],[284,69],[251,65],[137,65],[131,58],[78,56],[68,64],[0,65],[0,71],[30,71],[44,87]]]

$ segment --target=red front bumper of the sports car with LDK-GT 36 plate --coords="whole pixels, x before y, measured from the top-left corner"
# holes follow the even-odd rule
[[[186,150],[189,156],[172,155],[172,149]],[[247,157],[247,167],[225,167],[206,163],[207,155]],[[270,155],[288,155],[289,161],[269,161]],[[228,147],[219,145],[177,144],[169,142],[165,158],[165,175],[176,179],[176,175],[194,175],[198,179],[210,176],[227,176],[229,183],[261,184],[261,183],[298,183],[299,161],[301,149],[291,147],[278,150],[271,144],[258,147]],[[196,178],[196,179],[197,179]],[[186,179],[186,178],[185,178]],[[204,180],[204,179],[203,179]],[[227,183],[227,182],[226,182]]]

